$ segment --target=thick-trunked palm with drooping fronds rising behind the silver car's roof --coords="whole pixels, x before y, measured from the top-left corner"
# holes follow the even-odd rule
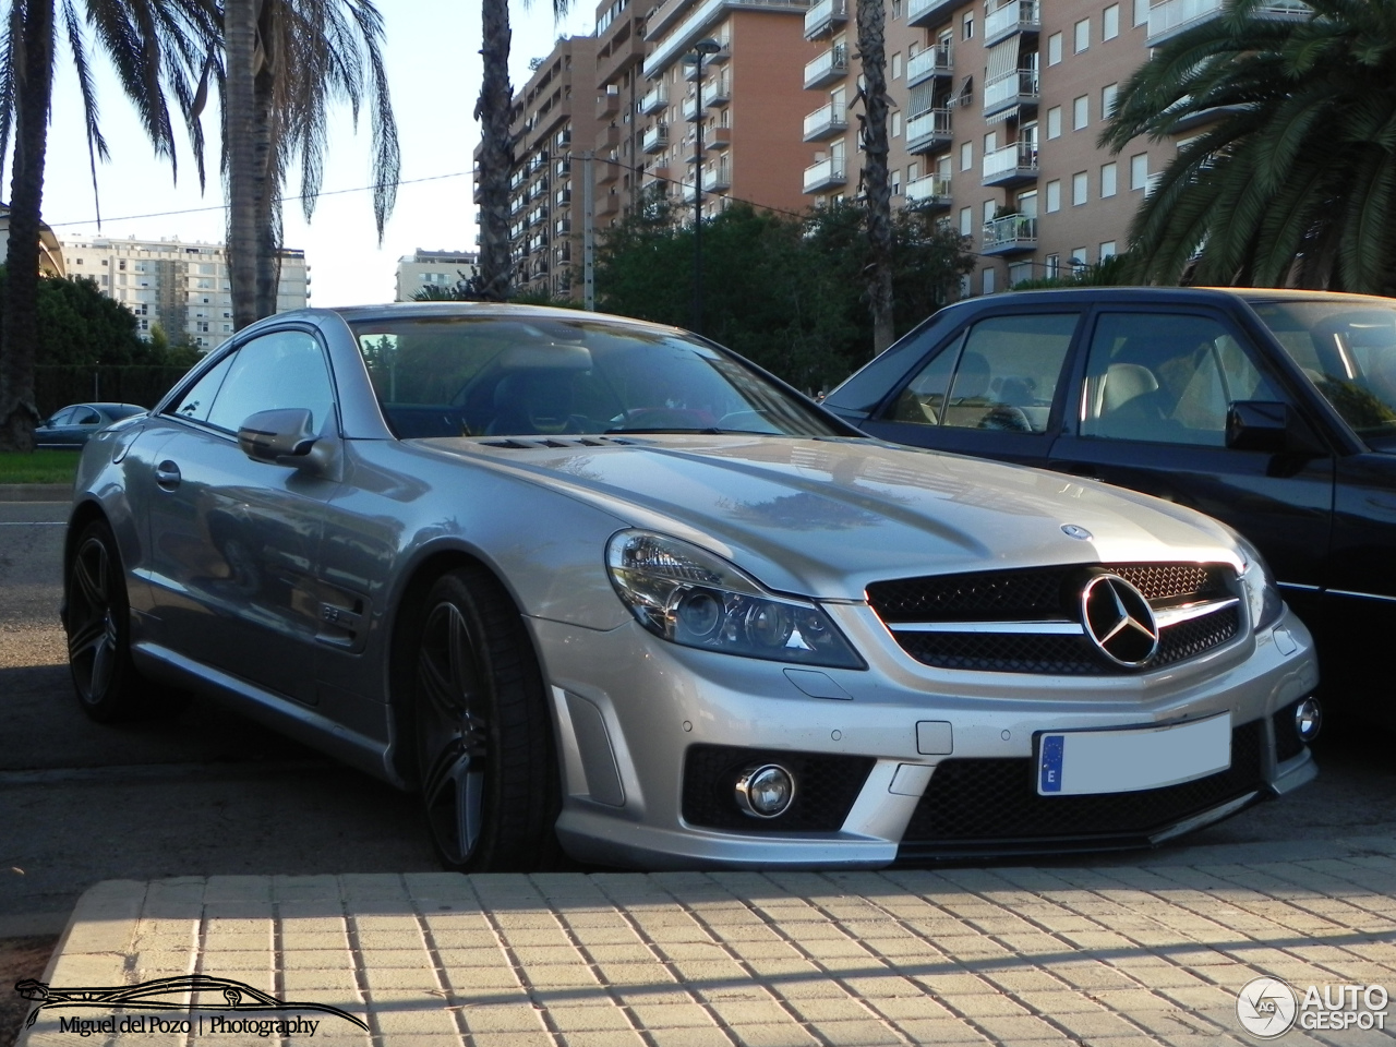
[[[367,102],[378,240],[396,198],[401,152],[383,66],[383,17],[373,0],[226,0],[223,172],[233,322],[276,311],[281,202],[300,162],[309,222],[320,195],[329,105]]]

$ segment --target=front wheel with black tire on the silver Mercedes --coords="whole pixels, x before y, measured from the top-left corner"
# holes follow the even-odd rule
[[[422,807],[441,864],[550,868],[560,807],[553,723],[518,609],[483,568],[441,577],[413,637]]]

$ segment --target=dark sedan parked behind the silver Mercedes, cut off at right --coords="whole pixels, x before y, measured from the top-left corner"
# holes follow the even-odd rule
[[[1325,692],[1396,722],[1396,302],[1082,288],[941,310],[824,405],[914,447],[1132,487],[1247,536]],[[1379,660],[1381,659],[1381,660]]]

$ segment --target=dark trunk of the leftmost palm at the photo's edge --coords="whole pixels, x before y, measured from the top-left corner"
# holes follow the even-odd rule
[[[43,158],[53,99],[53,0],[25,7],[22,68],[15,84],[14,179],[10,184],[10,244],[6,254],[4,324],[0,328],[0,451],[32,451],[39,410],[34,360],[39,339],[39,215]],[[18,49],[15,49],[18,50]]]

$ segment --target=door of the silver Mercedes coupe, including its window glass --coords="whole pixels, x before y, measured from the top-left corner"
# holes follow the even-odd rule
[[[250,415],[292,408],[311,412],[320,440],[339,441],[324,349],[299,328],[237,346],[158,416],[149,582],[163,644],[313,702],[315,557],[338,482],[253,461],[237,444]]]

